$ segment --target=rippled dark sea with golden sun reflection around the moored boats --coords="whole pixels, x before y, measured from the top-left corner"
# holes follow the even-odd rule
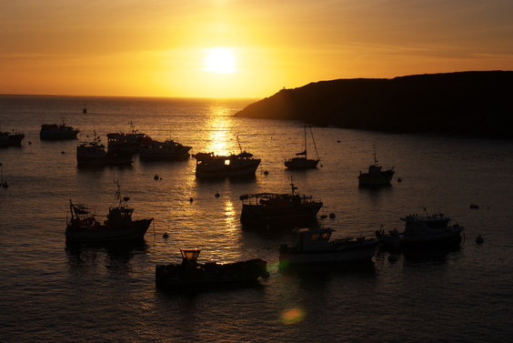
[[[291,171],[303,123],[234,116],[258,99],[0,96],[0,131],[25,133],[0,149],[0,341],[2,342],[510,342],[513,338],[513,142],[473,136],[393,134],[312,127],[321,162]],[[86,113],[83,113],[83,109]],[[493,108],[493,106],[490,106]],[[415,114],[412,114],[414,120]],[[81,130],[42,141],[42,124]],[[439,123],[444,125],[444,123]],[[262,159],[255,177],[197,179],[196,160],[79,168],[75,148],[132,126],[191,153]],[[358,187],[374,162],[396,171],[390,187]],[[65,244],[70,200],[113,204],[116,183],[135,217],[153,217],[143,242]],[[458,247],[398,254],[369,264],[284,270],[278,247],[290,229],[248,229],[240,196],[297,192],[324,202],[333,237],[370,237],[399,217],[443,212],[465,227]],[[218,195],[218,197],[216,197]],[[165,237],[165,234],[168,237]],[[484,243],[478,245],[481,235]],[[256,286],[169,293],[157,264],[267,261]]]

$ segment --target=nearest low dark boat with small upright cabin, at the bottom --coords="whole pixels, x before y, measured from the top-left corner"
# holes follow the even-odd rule
[[[197,263],[199,248],[180,249],[181,264],[156,265],[156,287],[165,290],[191,290],[257,283],[268,277],[267,262],[261,258],[218,264]]]

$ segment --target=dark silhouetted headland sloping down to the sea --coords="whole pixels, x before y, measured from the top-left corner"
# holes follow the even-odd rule
[[[320,81],[284,88],[235,116],[397,133],[513,138],[513,71]]]

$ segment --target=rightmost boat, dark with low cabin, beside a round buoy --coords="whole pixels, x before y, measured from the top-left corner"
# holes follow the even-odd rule
[[[426,208],[424,208],[426,212]],[[383,227],[376,231],[381,244],[391,249],[406,249],[410,247],[437,247],[458,245],[461,242],[461,232],[465,227],[458,223],[450,225],[451,219],[443,213],[419,216],[417,214],[400,217],[405,222],[405,229],[397,229],[385,233]]]

